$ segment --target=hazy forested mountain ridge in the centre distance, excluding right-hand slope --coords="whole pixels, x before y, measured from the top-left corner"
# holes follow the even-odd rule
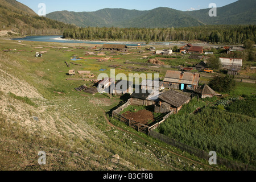
[[[46,15],[47,18],[60,22],[73,23],[79,27],[187,27],[200,26],[199,20],[189,15],[159,7],[154,10],[138,11],[126,9],[102,9],[94,12],[56,11]]]

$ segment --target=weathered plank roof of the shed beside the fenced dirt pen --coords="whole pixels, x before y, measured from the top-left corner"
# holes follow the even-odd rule
[[[179,92],[176,92],[175,90],[169,90],[159,96],[159,99],[167,102],[168,104],[180,107],[184,105],[187,101],[190,100],[190,97],[185,96],[184,94],[181,94]]]

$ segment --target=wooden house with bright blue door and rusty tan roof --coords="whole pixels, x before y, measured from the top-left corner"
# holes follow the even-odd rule
[[[164,77],[164,88],[177,90],[195,90],[200,80],[199,73],[167,71]]]

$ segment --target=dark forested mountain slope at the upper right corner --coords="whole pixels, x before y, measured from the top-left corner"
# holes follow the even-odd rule
[[[217,16],[210,17],[209,9],[186,11],[185,14],[205,24],[256,24],[256,1],[240,0],[217,8]]]

